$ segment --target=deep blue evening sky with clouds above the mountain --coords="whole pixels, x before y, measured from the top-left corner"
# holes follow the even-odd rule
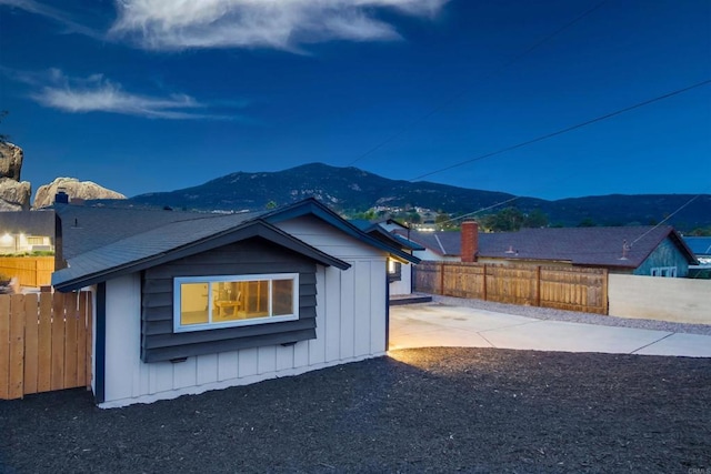
[[[0,0],[0,133],[33,189],[318,161],[543,199],[709,193],[709,83],[479,158],[710,79],[708,0]]]

